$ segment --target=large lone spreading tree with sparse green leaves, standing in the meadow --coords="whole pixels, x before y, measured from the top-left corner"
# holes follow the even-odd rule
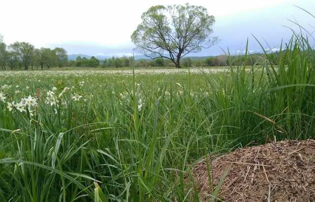
[[[176,67],[181,67],[180,58],[219,42],[218,37],[211,37],[215,17],[202,6],[157,5],[141,18],[131,35],[135,51],[152,59],[168,58]]]

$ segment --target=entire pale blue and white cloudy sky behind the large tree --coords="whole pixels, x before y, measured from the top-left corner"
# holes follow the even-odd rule
[[[315,0],[1,0],[0,33],[4,42],[29,42],[35,48],[63,47],[68,54],[129,56],[135,48],[130,36],[151,6],[189,4],[204,6],[215,16],[213,36],[221,42],[191,56],[216,56],[249,50],[267,43],[277,50],[298,30],[315,29]],[[287,28],[289,27],[289,28]],[[265,42],[266,41],[266,42]],[[135,53],[137,55],[137,53]]]

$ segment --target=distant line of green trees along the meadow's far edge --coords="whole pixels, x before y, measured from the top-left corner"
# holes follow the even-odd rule
[[[286,52],[283,52],[286,54]],[[246,65],[261,65],[263,62],[271,62],[278,64],[279,53],[270,54],[251,54],[246,58]],[[268,60],[267,60],[268,58]],[[215,66],[228,66],[230,65],[244,65],[245,56],[227,56],[221,55],[216,57],[208,57],[203,59],[182,58],[182,67],[215,67]],[[67,52],[63,48],[40,48],[36,49],[30,43],[15,42],[6,45],[3,42],[3,36],[0,34],[0,68],[6,69],[25,69],[29,68],[51,68],[51,67],[103,67],[103,68],[119,68],[119,67],[132,67],[133,57],[120,57],[120,58],[106,58],[99,60],[94,56],[90,59],[81,58],[78,56],[76,60],[68,60]],[[175,64],[170,59],[156,58],[156,59],[140,59],[134,61],[135,67],[175,67]]]

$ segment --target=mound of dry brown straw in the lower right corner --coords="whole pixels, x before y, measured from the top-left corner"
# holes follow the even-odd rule
[[[314,141],[247,147],[217,160],[208,159],[213,164],[214,187],[229,170],[220,188],[224,202],[315,202]],[[200,201],[209,201],[205,159],[196,164],[193,173]]]

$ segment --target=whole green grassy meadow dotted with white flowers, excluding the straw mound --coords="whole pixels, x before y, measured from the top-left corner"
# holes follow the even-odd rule
[[[278,66],[0,72],[0,201],[198,201],[206,155],[314,139],[314,52],[296,38]]]

